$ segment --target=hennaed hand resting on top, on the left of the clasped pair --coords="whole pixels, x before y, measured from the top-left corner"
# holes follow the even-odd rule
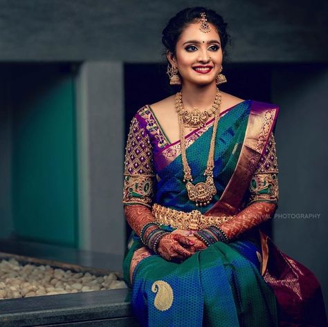
[[[157,252],[167,261],[181,262],[188,259],[194,250],[194,241],[181,234],[165,234],[158,243]],[[189,248],[186,248],[189,247]]]

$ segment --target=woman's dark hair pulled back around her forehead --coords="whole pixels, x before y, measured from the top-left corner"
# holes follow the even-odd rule
[[[175,54],[176,42],[179,40],[183,30],[189,25],[201,19],[201,12],[206,13],[208,23],[217,29],[221,39],[221,48],[226,56],[226,45],[230,44],[230,35],[226,32],[227,24],[224,19],[214,10],[204,7],[185,8],[170,19],[162,32],[162,43],[170,53]]]

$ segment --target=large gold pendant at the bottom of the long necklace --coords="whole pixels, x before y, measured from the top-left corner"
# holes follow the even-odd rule
[[[197,183],[196,185],[188,181],[185,187],[188,191],[189,199],[196,202],[197,207],[208,205],[213,196],[217,194],[217,188],[212,176],[207,176],[205,183]]]

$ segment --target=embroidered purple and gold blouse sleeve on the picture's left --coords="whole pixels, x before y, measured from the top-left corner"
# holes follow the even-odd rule
[[[154,181],[152,144],[147,131],[140,127],[134,117],[131,120],[125,148],[123,204],[152,207]]]

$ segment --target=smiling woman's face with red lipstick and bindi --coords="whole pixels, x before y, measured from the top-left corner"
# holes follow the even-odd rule
[[[223,54],[219,34],[215,26],[209,25],[210,32],[204,33],[199,30],[200,23],[189,24],[176,43],[176,55],[167,53],[170,63],[178,68],[183,84],[215,83]]]

